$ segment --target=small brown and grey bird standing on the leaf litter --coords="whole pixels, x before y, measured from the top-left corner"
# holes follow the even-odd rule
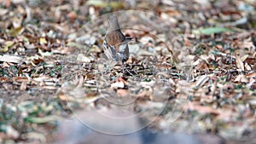
[[[121,61],[123,73],[125,62],[129,59],[129,46],[132,37],[125,37],[120,30],[119,21],[116,15],[108,17],[107,32],[103,41],[103,49],[108,60]]]

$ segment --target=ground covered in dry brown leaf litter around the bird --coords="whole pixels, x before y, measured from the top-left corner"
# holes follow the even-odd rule
[[[140,113],[157,131],[256,130],[255,0],[0,4],[0,143],[54,141],[61,119],[90,109]],[[112,14],[133,38],[125,72],[102,49]]]

